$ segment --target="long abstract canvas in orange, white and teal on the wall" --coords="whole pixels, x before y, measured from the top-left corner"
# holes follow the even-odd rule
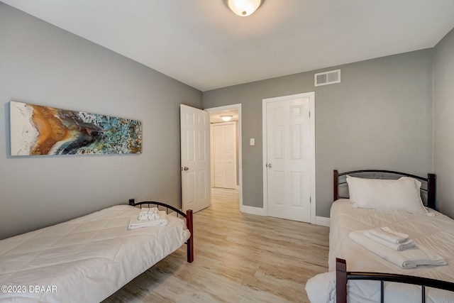
[[[142,122],[10,102],[11,155],[142,152]]]

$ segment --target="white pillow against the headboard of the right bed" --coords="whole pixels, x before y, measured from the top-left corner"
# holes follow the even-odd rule
[[[399,180],[365,179],[347,176],[353,206],[427,214],[421,200],[421,182],[411,177]]]

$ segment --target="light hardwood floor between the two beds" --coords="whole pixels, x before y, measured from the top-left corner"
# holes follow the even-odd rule
[[[306,281],[328,270],[328,232],[242,214],[236,190],[213,189],[194,214],[194,262],[182,246],[104,302],[309,302]]]

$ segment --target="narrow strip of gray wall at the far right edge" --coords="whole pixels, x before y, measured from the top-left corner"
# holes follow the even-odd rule
[[[454,30],[434,48],[433,170],[438,208],[454,219]]]

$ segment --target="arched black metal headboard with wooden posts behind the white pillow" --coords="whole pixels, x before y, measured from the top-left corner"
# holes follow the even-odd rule
[[[419,177],[405,172],[394,172],[392,170],[353,170],[351,172],[339,173],[333,171],[333,201],[340,198],[348,198],[348,186],[345,178],[347,175],[352,177],[362,177],[371,179],[399,179],[400,177],[412,177],[421,181],[421,199],[424,205],[435,209],[436,203],[436,175],[427,174],[427,177]]]

